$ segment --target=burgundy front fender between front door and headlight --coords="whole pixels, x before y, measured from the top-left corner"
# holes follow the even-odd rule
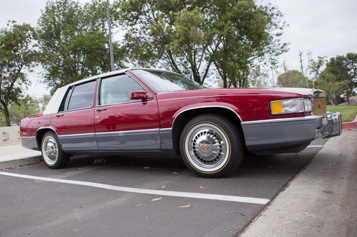
[[[277,118],[303,117],[295,115],[271,115],[271,100],[298,98],[301,94],[283,93],[265,89],[211,89],[186,90],[156,95],[159,103],[161,127],[172,127],[179,112],[196,107],[228,107],[241,117],[241,120],[271,120]]]

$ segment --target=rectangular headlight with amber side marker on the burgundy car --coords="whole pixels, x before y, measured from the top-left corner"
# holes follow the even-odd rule
[[[270,107],[272,115],[295,114],[312,111],[311,100],[307,98],[274,100],[271,101]]]

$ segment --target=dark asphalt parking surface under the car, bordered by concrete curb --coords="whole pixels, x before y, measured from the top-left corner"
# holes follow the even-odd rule
[[[0,236],[236,236],[324,142],[246,157],[223,179],[196,177],[179,157],[76,156],[65,169],[3,169]]]

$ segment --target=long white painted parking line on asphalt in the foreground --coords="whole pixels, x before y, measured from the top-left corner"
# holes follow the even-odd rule
[[[23,179],[35,179],[41,181],[51,181],[56,183],[63,183],[63,184],[76,184],[81,186],[91,186],[100,189],[109,189],[109,190],[116,190],[116,191],[126,191],[130,193],[136,194],[152,194],[152,195],[160,195],[160,196],[179,196],[179,197],[186,197],[191,199],[210,199],[210,200],[219,200],[219,201],[235,201],[235,202],[243,202],[248,204],[267,204],[270,200],[269,199],[258,199],[252,198],[248,196],[230,196],[230,195],[220,195],[220,194],[203,194],[203,193],[191,193],[191,192],[184,192],[184,191],[164,191],[164,190],[153,190],[153,189],[137,189],[137,188],[130,188],[126,186],[114,186],[109,184],[99,184],[99,183],[92,183],[87,181],[75,181],[69,179],[53,179],[53,178],[46,178],[46,177],[37,177],[32,175],[26,174],[14,174],[9,172],[0,172],[1,175],[11,176],[11,177],[18,177]]]

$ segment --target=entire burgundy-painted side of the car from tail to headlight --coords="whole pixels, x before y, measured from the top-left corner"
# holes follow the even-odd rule
[[[98,107],[96,100],[99,85],[97,85],[94,107],[26,118],[21,122],[21,136],[36,136],[36,130],[41,127],[52,127],[58,135],[171,128],[180,112],[198,107],[228,107],[235,111],[243,122],[305,116],[270,113],[271,100],[306,97],[299,93],[231,88],[186,90],[155,95],[154,91],[133,73],[130,71],[127,73],[153,95],[152,100]],[[97,109],[100,111],[96,112]]]

